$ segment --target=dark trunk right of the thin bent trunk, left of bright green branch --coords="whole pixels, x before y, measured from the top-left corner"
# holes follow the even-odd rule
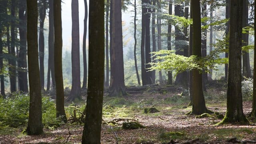
[[[152,84],[152,72],[147,69],[151,62],[150,54],[150,4],[149,0],[142,0],[142,36],[141,36],[141,79],[142,85]]]

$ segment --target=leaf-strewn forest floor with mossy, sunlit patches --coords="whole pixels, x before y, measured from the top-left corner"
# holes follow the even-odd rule
[[[194,143],[248,143],[256,141],[256,123],[250,125],[226,124],[214,126],[222,119],[212,115],[207,118],[187,116],[191,110],[189,96],[182,88],[156,88],[134,92],[130,88],[128,96],[113,98],[104,96],[103,123],[113,119],[132,119],[145,128],[125,130],[122,122],[102,124],[102,144],[174,144],[195,140]],[[225,88],[208,88],[204,94],[208,109],[225,114]],[[244,102],[244,114],[252,108],[250,100]],[[144,108],[155,107],[160,112],[145,114]],[[130,120],[130,121],[132,121]],[[44,128],[44,134],[27,136],[21,134],[23,128],[16,128],[8,134],[0,134],[0,144],[79,144],[83,125],[63,124],[56,129]],[[197,139],[199,138],[199,140]],[[236,138],[236,139],[232,139]],[[230,140],[231,139],[231,140]],[[230,142],[228,142],[230,140]],[[255,142],[256,143],[256,142]]]

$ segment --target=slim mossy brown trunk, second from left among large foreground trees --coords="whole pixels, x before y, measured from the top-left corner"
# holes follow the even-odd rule
[[[54,0],[54,72],[56,80],[56,117],[67,122],[64,109],[64,88],[62,77],[62,21],[61,0]]]

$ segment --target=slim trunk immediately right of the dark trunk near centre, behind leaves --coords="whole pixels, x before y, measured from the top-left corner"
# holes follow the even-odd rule
[[[152,52],[156,52],[156,0],[152,0]],[[155,62],[156,57],[152,58],[152,62]],[[152,70],[152,83],[156,83],[156,70]]]

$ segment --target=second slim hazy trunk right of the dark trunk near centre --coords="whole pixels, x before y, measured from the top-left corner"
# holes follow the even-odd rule
[[[158,4],[158,13],[161,14],[161,0],[157,0]],[[157,15],[157,48],[158,51],[162,50],[162,42],[161,42],[161,18]],[[159,70],[159,83],[163,84],[162,71]]]

